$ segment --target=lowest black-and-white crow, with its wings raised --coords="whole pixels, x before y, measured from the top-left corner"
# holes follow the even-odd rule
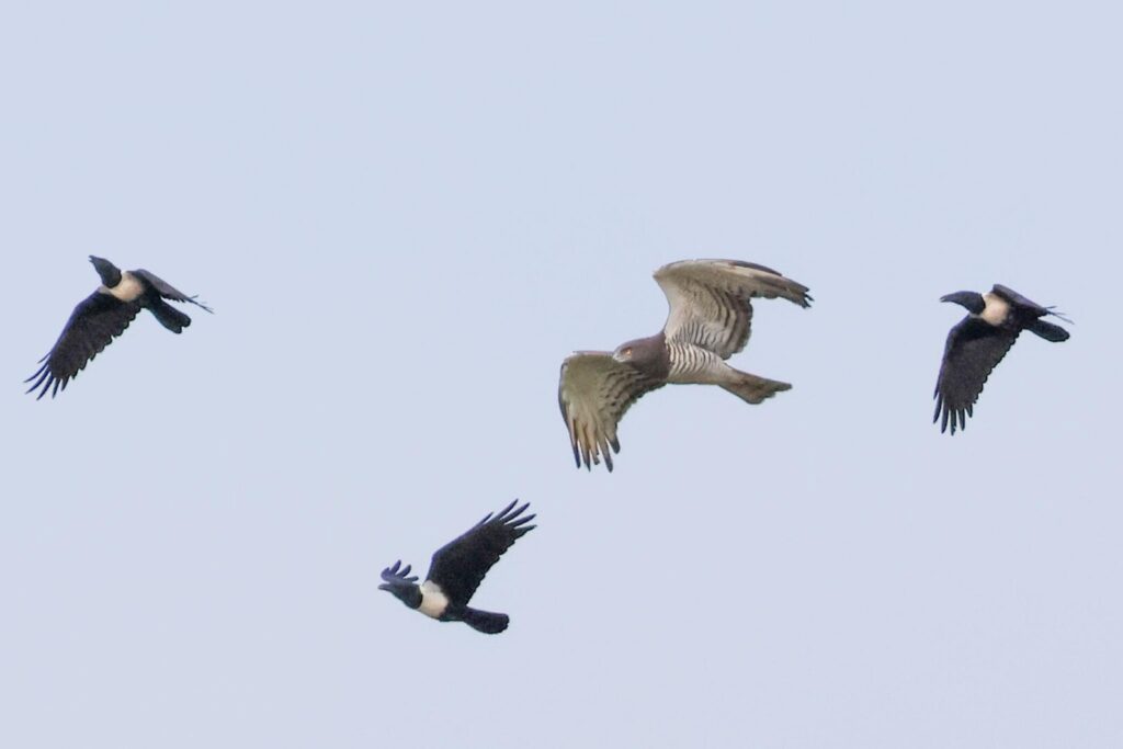
[[[417,575],[410,575],[411,566],[402,567],[398,560],[382,570],[384,582],[378,590],[390,591],[410,609],[442,622],[460,621],[486,634],[502,632],[510,622],[506,614],[469,609],[468,601],[500,556],[535,528],[526,524],[535,515],[519,517],[530,505],[515,509],[518,500],[495,517],[487,513],[469,531],[438,549],[421,585],[417,584]]]

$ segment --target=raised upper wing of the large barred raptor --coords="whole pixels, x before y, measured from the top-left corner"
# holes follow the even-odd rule
[[[681,261],[655,272],[670,304],[668,342],[688,342],[728,359],[745,348],[754,296],[810,307],[807,287],[763,265],[741,261]]]

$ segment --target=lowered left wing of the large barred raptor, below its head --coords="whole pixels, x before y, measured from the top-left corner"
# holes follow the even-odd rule
[[[600,463],[612,471],[612,450],[620,451],[617,424],[641,395],[666,384],[617,362],[608,351],[578,351],[562,363],[558,405],[569,430],[573,457],[581,467]]]

